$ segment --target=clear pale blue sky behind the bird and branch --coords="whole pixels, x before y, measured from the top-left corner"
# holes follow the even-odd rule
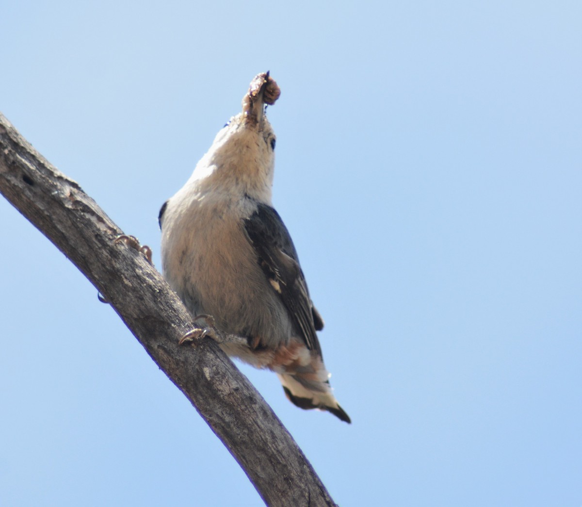
[[[251,78],[351,426],[242,366],[342,506],[582,505],[582,4],[2,2],[0,111],[127,233]],[[261,505],[0,198],[0,504]]]

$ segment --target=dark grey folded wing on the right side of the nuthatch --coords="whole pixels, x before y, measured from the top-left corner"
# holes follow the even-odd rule
[[[281,217],[274,208],[257,203],[257,211],[245,219],[244,228],[257,253],[258,263],[273,290],[281,296],[307,348],[321,356],[315,331],[321,331],[324,322],[311,302],[297,251]]]

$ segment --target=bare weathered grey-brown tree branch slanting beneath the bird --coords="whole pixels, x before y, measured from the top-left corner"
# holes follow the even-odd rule
[[[267,505],[335,505],[289,432],[210,339],[178,346],[194,327],[178,296],[73,180],[0,114],[0,193],[51,240],[113,306],[186,395]]]

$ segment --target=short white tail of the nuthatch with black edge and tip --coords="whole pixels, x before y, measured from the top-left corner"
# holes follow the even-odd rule
[[[283,391],[293,405],[300,409],[320,409],[331,412],[338,419],[350,424],[352,421],[345,410],[340,407],[331,392],[329,381],[317,382],[305,380],[300,375],[278,374]]]

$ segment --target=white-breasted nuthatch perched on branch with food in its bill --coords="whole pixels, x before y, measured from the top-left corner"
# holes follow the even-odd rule
[[[315,333],[324,322],[271,204],[275,134],[265,109],[279,94],[268,72],[255,76],[242,112],[162,206],[163,272],[194,317],[212,315],[217,329],[242,337],[220,343],[229,356],[275,371],[302,409],[328,410],[350,423],[332,394]]]

